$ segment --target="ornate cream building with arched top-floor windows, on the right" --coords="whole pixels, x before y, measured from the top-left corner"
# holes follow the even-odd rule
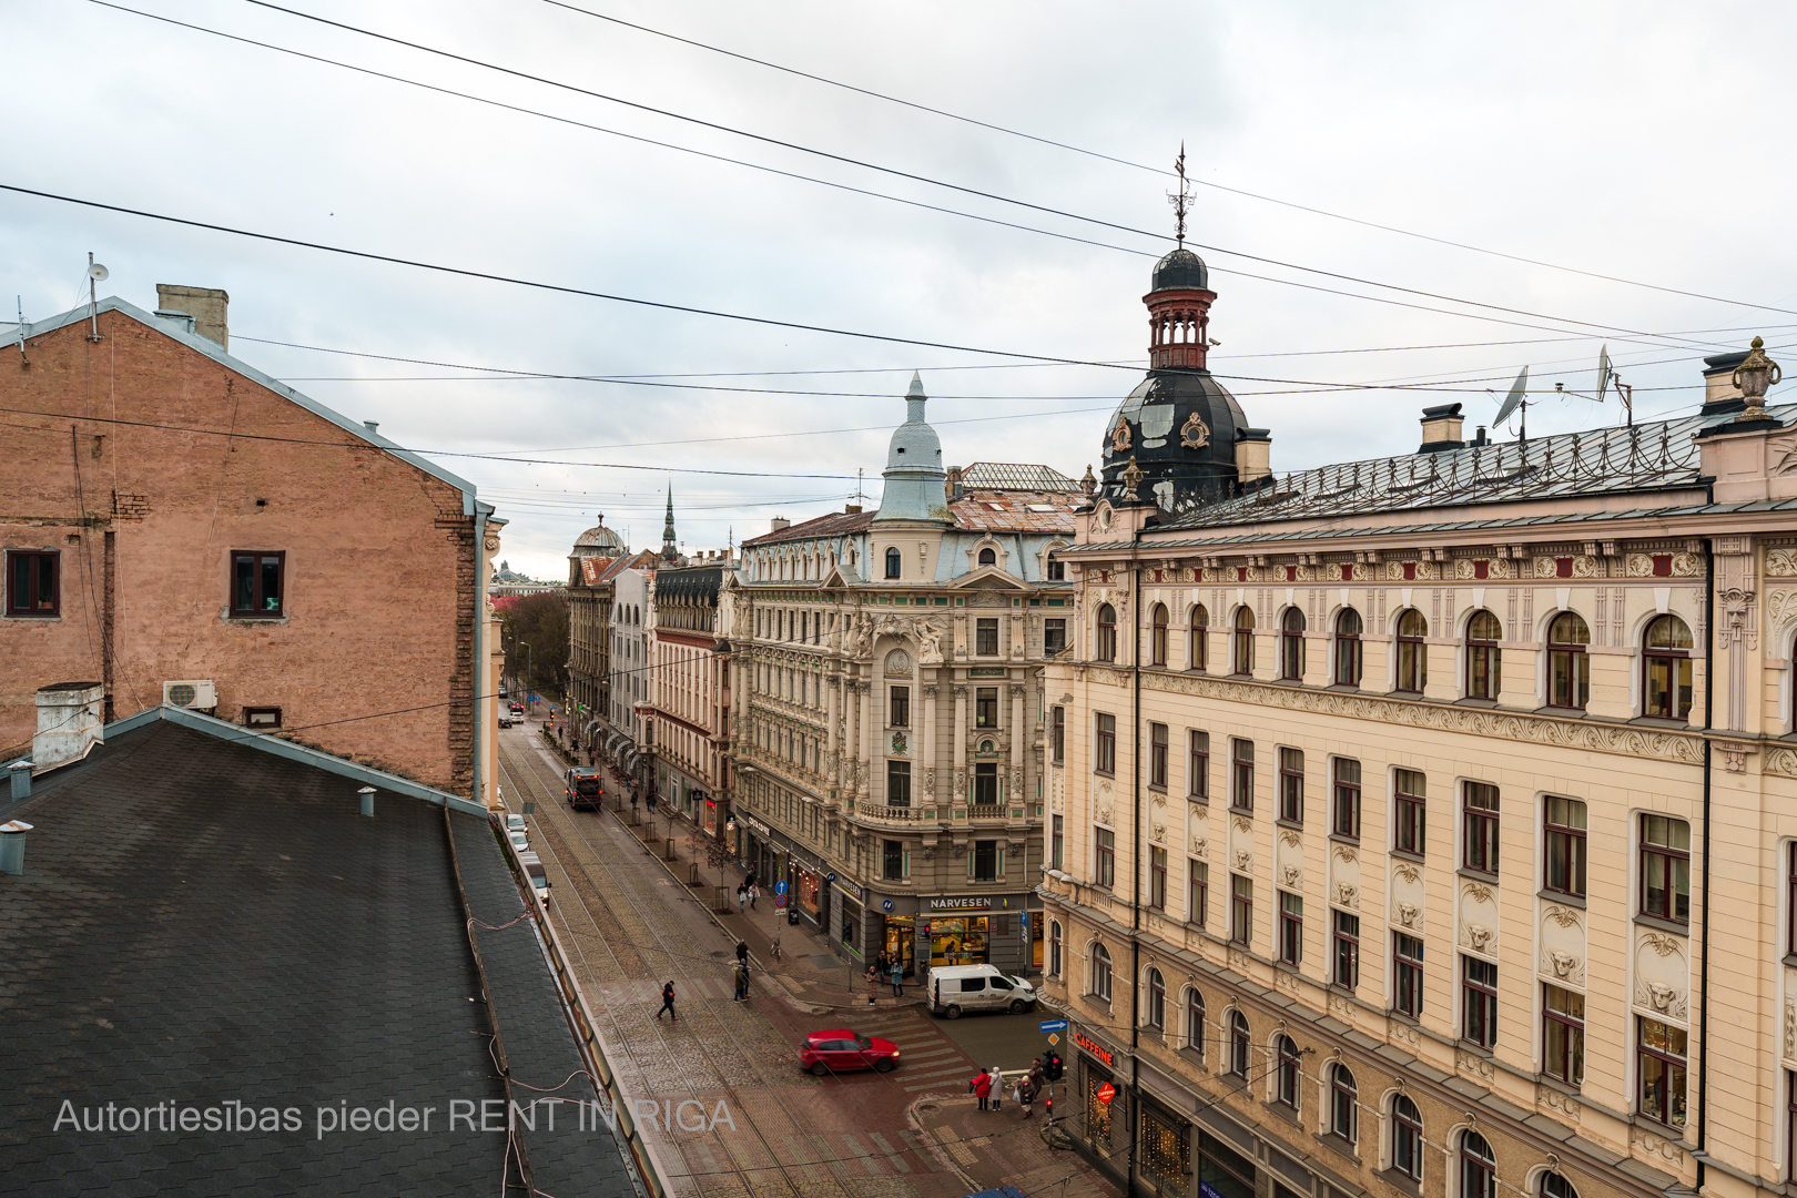
[[[1046,677],[1087,1151],[1211,1198],[1788,1193],[1797,433],[1763,357],[1709,365],[1695,417],[1448,406],[1270,476],[1155,361]],[[1224,410],[1233,463],[1168,444]]]

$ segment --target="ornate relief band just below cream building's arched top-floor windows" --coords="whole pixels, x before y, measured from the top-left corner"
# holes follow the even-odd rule
[[[1094,670],[1114,686],[1129,686],[1130,675],[1121,670]],[[1702,738],[1687,733],[1655,731],[1644,727],[1612,727],[1554,717],[1490,711],[1481,708],[1454,708],[1421,704],[1377,695],[1346,695],[1296,686],[1240,683],[1235,679],[1191,674],[1143,674],[1143,688],[1170,693],[1200,695],[1227,702],[1263,708],[1315,711],[1355,720],[1371,720],[1407,727],[1429,727],[1472,736],[1493,736],[1533,745],[1617,753],[1655,762],[1698,765],[1704,760]]]

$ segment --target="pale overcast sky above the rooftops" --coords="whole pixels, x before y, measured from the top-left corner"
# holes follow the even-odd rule
[[[580,0],[1141,163],[1123,165],[546,0],[291,0],[618,101],[1069,214],[1053,216],[248,0],[122,2],[480,99],[93,0],[14,0],[0,181],[969,348],[1139,370],[1141,295],[1172,244],[1173,187],[1141,167],[1170,169],[1184,142],[1190,239],[1218,295],[1211,368],[1249,420],[1272,429],[1281,472],[1412,451],[1427,404],[1463,399],[1472,422],[1488,420],[1522,365],[1540,388],[1589,393],[1605,341],[1635,386],[1637,417],[1689,411],[1700,357],[1743,348],[1754,332],[1774,356],[1797,347],[1788,5]],[[690,551],[766,532],[773,515],[837,508],[857,469],[877,499],[913,368],[938,397],[929,415],[949,463],[1042,462],[1073,476],[1098,462],[1107,413],[1139,377],[559,295],[0,192],[7,320],[14,295],[27,320],[84,300],[88,251],[111,269],[102,295],[146,309],[158,282],[225,287],[234,354],[379,420],[404,445],[550,460],[438,458],[512,521],[505,557],[537,577],[566,573],[570,542],[600,512],[633,548],[659,544],[670,483]],[[1393,348],[1438,345],[1457,348]],[[1783,356],[1797,365],[1797,348]],[[642,386],[449,366],[730,377]],[[1400,381],[1441,390],[1314,386]],[[1621,420],[1614,399],[1542,399],[1531,431]]]

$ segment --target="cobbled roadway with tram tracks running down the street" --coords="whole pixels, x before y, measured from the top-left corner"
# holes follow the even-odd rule
[[[638,1087],[645,1097],[665,1097],[670,1090],[685,1090],[690,1099],[704,1106],[701,1096],[724,1096],[730,1106],[731,1123],[746,1123],[751,1137],[731,1137],[726,1141],[719,1123],[710,1119],[699,1128],[663,1128],[661,1141],[670,1144],[685,1166],[685,1189],[697,1198],[739,1198],[762,1194],[791,1194],[794,1198],[825,1198],[836,1194],[873,1194],[916,1193],[907,1182],[897,1176],[852,1176],[843,1158],[825,1157],[823,1160],[803,1160],[816,1157],[809,1150],[810,1130],[800,1123],[789,1105],[778,1099],[780,1088],[794,1088],[814,1083],[809,1076],[792,1072],[791,1078],[775,1081],[767,1076],[766,1065],[789,1065],[792,1047],[783,1036],[762,1035],[755,1044],[748,1044],[726,1018],[719,1000],[706,993],[706,981],[717,981],[730,966],[728,954],[717,952],[701,957],[695,945],[685,945],[686,952],[670,945],[663,930],[665,918],[647,909],[642,898],[643,878],[624,873],[616,857],[616,846],[598,828],[584,828],[573,812],[561,801],[561,778],[530,751],[519,751],[501,742],[501,767],[505,769],[514,794],[528,796],[537,806],[532,839],[539,835],[550,850],[557,873],[562,875],[568,889],[575,896],[584,916],[588,932],[577,930],[570,903],[555,903],[562,912],[562,925],[570,930],[570,939],[580,956],[580,966],[588,973],[589,984],[606,1018],[616,1031],[618,1047],[627,1054],[633,1070],[638,1074]],[[595,833],[598,839],[595,839]],[[579,844],[584,851],[573,851]],[[658,880],[677,885],[672,880]],[[681,902],[688,902],[681,887]],[[604,923],[602,923],[604,921]],[[609,925],[613,930],[607,934]],[[591,939],[598,952],[598,966],[588,954],[586,939]],[[659,957],[659,961],[656,961]],[[715,961],[713,961],[715,957]],[[710,979],[699,977],[699,963],[715,966]],[[674,1033],[649,1015],[649,1008],[659,1000],[659,979],[674,977],[685,986],[683,1024],[690,1027],[685,1035]],[[647,993],[645,993],[647,991]],[[652,1026],[652,1027],[651,1027]],[[760,1026],[757,1031],[762,1031]],[[773,1033],[771,1027],[766,1027]],[[643,1033],[652,1033],[659,1060],[645,1060],[640,1053]],[[724,1045],[719,1049],[717,1045]],[[762,1094],[746,1096],[739,1087],[757,1087]],[[688,1108],[690,1110],[690,1108]],[[778,1112],[778,1114],[776,1114]],[[789,1126],[791,1133],[783,1128]],[[685,1135],[683,1135],[685,1132]],[[780,1144],[785,1150],[782,1151]],[[728,1160],[728,1169],[708,1167],[703,1160],[704,1146],[715,1144]],[[800,1160],[792,1160],[798,1155]],[[699,1160],[695,1160],[699,1157]],[[924,1164],[922,1153],[918,1153]],[[924,1164],[924,1169],[931,1166]],[[897,1185],[881,1185],[881,1182]]]

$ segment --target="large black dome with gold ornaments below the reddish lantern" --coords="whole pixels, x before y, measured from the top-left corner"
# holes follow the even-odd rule
[[[1105,426],[1103,490],[1120,496],[1123,471],[1136,458],[1143,499],[1166,510],[1215,499],[1235,481],[1235,442],[1244,427],[1242,406],[1208,370],[1152,370]],[[1172,494],[1157,483],[1170,483]]]

